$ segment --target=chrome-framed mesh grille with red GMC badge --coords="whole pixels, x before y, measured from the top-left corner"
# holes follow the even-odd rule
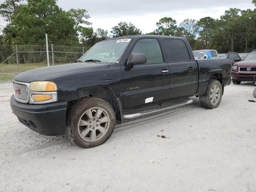
[[[29,100],[29,88],[28,84],[21,84],[18,82],[13,83],[14,96],[17,101],[22,103],[28,103]]]

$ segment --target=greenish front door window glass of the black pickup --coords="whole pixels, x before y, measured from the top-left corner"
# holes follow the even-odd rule
[[[134,46],[132,53],[144,53],[147,64],[164,62],[162,50],[157,39],[141,39]]]

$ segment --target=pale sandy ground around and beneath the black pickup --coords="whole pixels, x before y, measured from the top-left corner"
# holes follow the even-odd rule
[[[9,105],[12,84],[0,84],[0,191],[255,192],[256,103],[248,102],[256,100],[254,88],[231,84],[217,109],[193,98],[83,149],[20,124]]]

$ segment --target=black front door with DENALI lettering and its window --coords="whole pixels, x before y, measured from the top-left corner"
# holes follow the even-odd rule
[[[144,53],[146,64],[122,66],[124,110],[168,100],[170,94],[169,67],[164,62],[157,38],[140,39],[132,53]]]

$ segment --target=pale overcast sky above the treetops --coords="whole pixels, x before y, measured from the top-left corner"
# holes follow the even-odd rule
[[[4,0],[0,0],[0,3]],[[209,2],[209,3],[208,3]],[[199,20],[210,16],[220,18],[229,8],[254,9],[252,0],[58,0],[63,10],[86,9],[94,29],[111,28],[119,22],[132,22],[142,33],[156,29],[156,22],[163,17],[172,17],[179,24],[186,18]],[[214,2],[214,3],[212,3]],[[0,25],[5,25],[0,18]]]

